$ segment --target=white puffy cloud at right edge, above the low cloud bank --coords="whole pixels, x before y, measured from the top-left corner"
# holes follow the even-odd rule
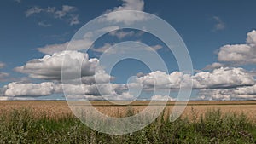
[[[247,33],[247,43],[224,45],[219,49],[218,61],[235,66],[256,64],[256,31]]]

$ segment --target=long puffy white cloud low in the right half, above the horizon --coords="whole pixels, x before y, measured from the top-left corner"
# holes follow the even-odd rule
[[[141,75],[141,74],[140,74]],[[150,72],[136,78],[136,84],[143,85],[145,90],[154,89],[180,89],[189,88],[189,82],[193,82],[193,89],[231,89],[242,86],[251,86],[255,80],[251,74],[242,68],[219,68],[212,72],[197,72],[194,76],[183,72]]]

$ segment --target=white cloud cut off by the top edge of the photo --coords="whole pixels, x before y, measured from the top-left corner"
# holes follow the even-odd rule
[[[107,10],[106,13],[122,11],[122,10],[137,10],[143,11],[144,1],[143,0],[122,0],[124,3],[115,7],[114,9]],[[132,14],[130,12],[125,12],[122,14],[108,14],[102,18],[102,21],[113,21],[113,22],[123,22],[126,25],[134,23],[136,21],[147,20],[148,17],[144,14]]]

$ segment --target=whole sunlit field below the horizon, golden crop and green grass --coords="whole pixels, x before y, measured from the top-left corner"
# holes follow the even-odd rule
[[[148,105],[91,103],[112,117],[131,116]],[[143,130],[107,135],[82,124],[66,101],[0,101],[0,143],[256,143],[256,101],[189,101],[172,123],[166,116],[173,104],[168,101],[165,112]]]

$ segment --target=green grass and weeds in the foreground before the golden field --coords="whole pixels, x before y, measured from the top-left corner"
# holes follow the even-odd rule
[[[14,110],[0,116],[0,143],[256,143],[256,124],[243,114],[208,110],[199,118],[163,115],[132,135],[107,135],[91,130],[72,115],[34,118],[32,110]],[[127,115],[132,115],[131,107]],[[195,116],[196,117],[196,116]]]

